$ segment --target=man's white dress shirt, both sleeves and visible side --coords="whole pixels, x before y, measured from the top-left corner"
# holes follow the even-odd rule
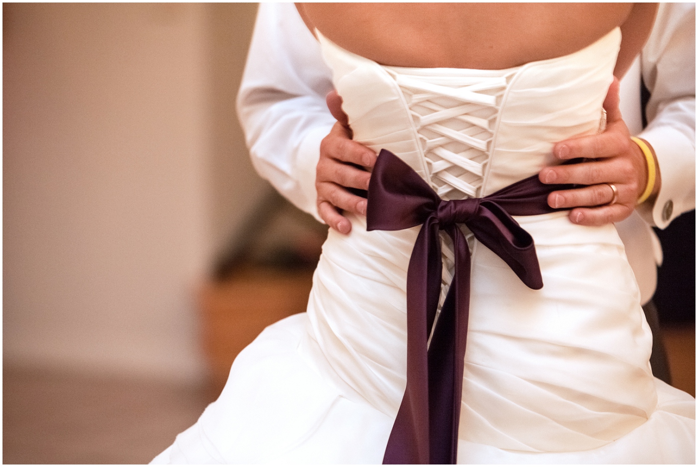
[[[651,92],[644,131],[640,75]],[[260,3],[237,112],[255,169],[318,221],[315,166],[335,122],[325,104],[332,89],[332,71],[295,6]],[[650,225],[665,228],[695,209],[695,3],[661,4],[648,43],[621,82],[621,112],[630,132],[652,144],[662,175],[653,205],[616,224],[645,303],[661,262]]]

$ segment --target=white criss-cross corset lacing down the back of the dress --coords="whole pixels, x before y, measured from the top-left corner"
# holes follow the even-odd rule
[[[400,87],[413,117],[433,190],[444,200],[480,198],[500,96],[514,72],[494,77],[444,77],[412,75],[397,67],[386,69]],[[472,249],[473,234],[466,228],[463,233]],[[450,239],[447,235],[442,239],[439,310],[454,267]]]

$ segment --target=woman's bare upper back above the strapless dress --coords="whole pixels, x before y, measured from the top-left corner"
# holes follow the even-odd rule
[[[656,3],[299,3],[308,27],[393,66],[503,69],[581,50],[621,27],[616,76],[650,34]]]

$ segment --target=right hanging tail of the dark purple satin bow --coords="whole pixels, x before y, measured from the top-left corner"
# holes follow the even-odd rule
[[[463,392],[463,360],[470,306],[470,251],[459,228],[449,230],[455,274],[429,346],[431,464],[456,464]]]

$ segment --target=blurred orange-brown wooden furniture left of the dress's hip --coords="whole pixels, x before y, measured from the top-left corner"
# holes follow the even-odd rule
[[[200,290],[202,332],[213,387],[218,394],[237,354],[262,330],[303,313],[313,285],[307,269],[279,271],[248,267]]]

